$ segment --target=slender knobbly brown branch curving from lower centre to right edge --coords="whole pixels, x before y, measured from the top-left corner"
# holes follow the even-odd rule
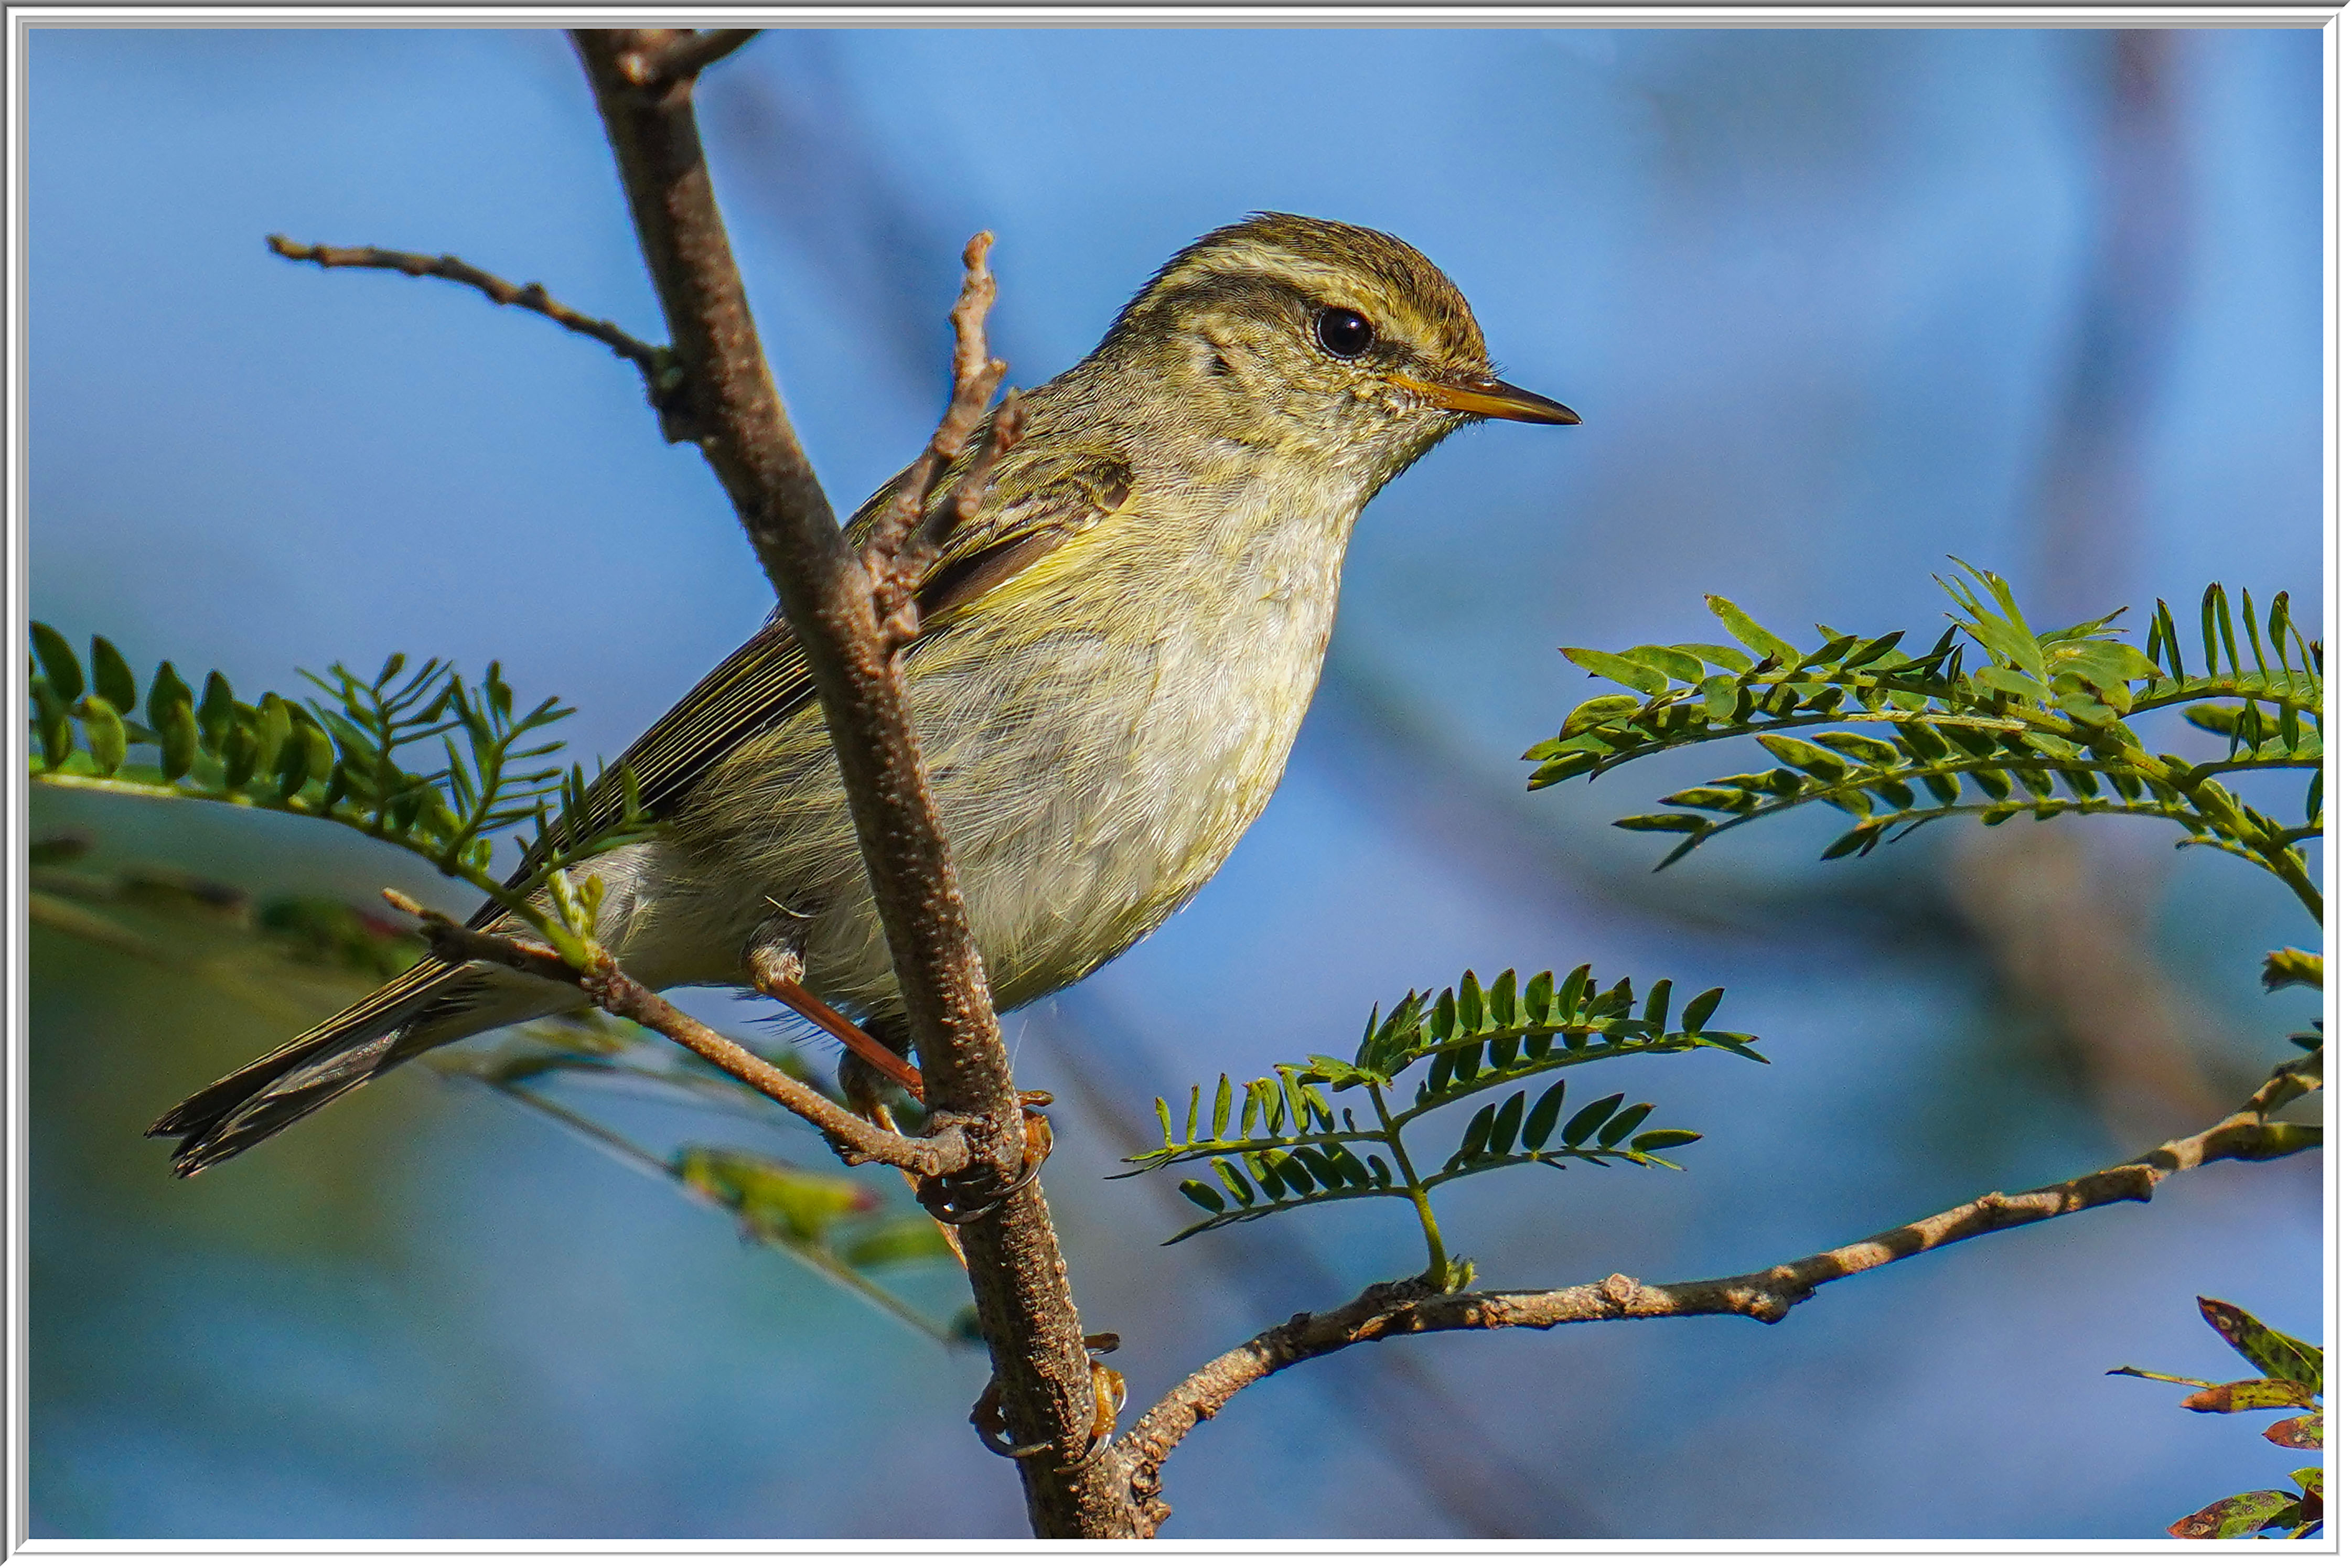
[[[1112,1460],[1129,1472],[1136,1507],[1157,1526],[1169,1514],[1167,1505],[1160,1502],[1160,1467],[1176,1450],[1176,1443],[1200,1422],[1216,1418],[1225,1401],[1251,1382],[1287,1366],[1402,1333],[1446,1333],[1454,1328],[1559,1328],[1562,1324],[1613,1319],[1726,1314],[1778,1324],[1832,1279],[2084,1208],[2103,1208],[2126,1199],[2145,1204],[2166,1175],[2194,1171],[2216,1159],[2260,1161],[2319,1147],[2321,1128],[2265,1119],[2281,1105],[2319,1088],[2319,1074],[2321,1053],[2312,1051],[2274,1067],[2270,1081],[2234,1114],[2201,1133],[2157,1145],[2138,1159],[2016,1197],[1987,1192],[1973,1204],[1757,1274],[1672,1286],[1644,1286],[1625,1274],[1611,1274],[1597,1284],[1564,1291],[1461,1291],[1451,1295],[1432,1291],[1423,1279],[1376,1284],[1345,1307],[1319,1314],[1301,1312],[1178,1382],[1112,1446]]]

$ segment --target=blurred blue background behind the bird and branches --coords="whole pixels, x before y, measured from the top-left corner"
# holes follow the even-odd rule
[[[1745,748],[1524,795],[1592,686],[1559,644],[2044,625],[2209,578],[2321,585],[2317,31],[833,31],[715,71],[720,200],[840,503],[936,416],[955,252],[997,233],[1018,383],[1249,209],[1395,230],[1585,425],[1458,435],[1367,512],[1289,778],[1134,954],[1011,1020],[1089,1326],[1148,1401],[1418,1267],[1388,1206],[1155,1244],[1150,1095],[1352,1048],[1463,966],[1726,985],[1729,1056],[1597,1067],[1689,1173],[1449,1187],[1486,1284],[1691,1279],[2204,1126],[2307,999],[2253,867],[2152,825],[1947,825],[1818,865],[1778,818],[1651,877],[1611,816]],[[454,252],[659,336],[557,33],[38,31],[31,592],[240,691],[393,649],[614,755],[764,614],[717,487],[583,339],[266,233]],[[2171,733],[2166,731],[2166,743]],[[45,792],[35,835],[266,893],[419,872],[209,806]],[[412,1070],[202,1182],[139,1128],[292,1023],[33,936],[33,1533],[1021,1533],[950,1352],[722,1215]],[[306,980],[294,1013],[358,983]],[[727,997],[696,997],[746,1020]],[[1578,1084],[1588,1088],[1588,1084]],[[628,1107],[612,1107],[616,1117]],[[818,1157],[800,1140],[800,1157]],[[1489,1187],[1489,1192],[1479,1192]],[[1973,1241],[1745,1321],[1446,1335],[1270,1380],[1169,1469],[1169,1535],[2147,1537],[2284,1453],[2100,1378],[2232,1359],[2194,1295],[2317,1338],[2319,1161]],[[929,1309],[955,1276],[908,1274]],[[1952,1483],[1966,1476],[1964,1483]]]

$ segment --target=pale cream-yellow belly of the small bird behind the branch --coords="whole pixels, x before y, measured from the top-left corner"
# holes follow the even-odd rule
[[[1103,567],[1115,562],[1075,574],[1028,630],[976,618],[908,658],[924,766],[1007,1011],[1117,957],[1216,872],[1282,778],[1331,632],[1336,550],[1228,559],[1225,581],[1169,574],[1188,581],[1174,599]],[[1155,592],[1162,614],[1136,625],[1120,592]],[[762,919],[804,917],[809,987],[896,1013],[816,710],[722,773],[734,778],[699,795],[731,804],[691,809],[663,875],[637,882],[647,903],[623,914],[637,933],[623,961],[659,947],[670,983],[739,980]]]

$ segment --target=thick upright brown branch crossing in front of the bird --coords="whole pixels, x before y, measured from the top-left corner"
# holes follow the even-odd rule
[[[687,78],[635,82],[623,56],[675,59],[691,33],[579,31],[637,242],[684,371],[703,456],[760,555],[816,682],[875,910],[934,1112],[971,1121],[1000,1187],[1021,1175],[1021,1110],[946,832],[922,773],[875,590],[786,418],[727,242]],[[1021,1187],[964,1227],[971,1293],[1040,1535],[1131,1535],[1112,1469],[1082,1462],[1094,1378],[1044,1197]],[[1070,1474],[1056,1467],[1073,1465]]]

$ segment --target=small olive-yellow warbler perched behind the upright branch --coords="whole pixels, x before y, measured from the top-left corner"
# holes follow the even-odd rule
[[[1411,244],[1287,214],[1188,244],[1025,404],[978,512],[917,588],[903,656],[1002,1011],[1124,952],[1256,820],[1322,675],[1364,503],[1470,421],[1578,423],[1496,381],[1470,306]],[[783,966],[903,1041],[826,722],[781,614],[621,762],[659,832],[581,867],[604,882],[597,940],[621,969],[661,990]],[[621,813],[619,790],[595,797],[607,818],[590,832]],[[506,929],[496,905],[475,924]],[[151,1131],[181,1140],[174,1168],[193,1175],[421,1051],[579,1006],[550,980],[423,959]],[[873,1098],[851,1063],[844,1086]]]

